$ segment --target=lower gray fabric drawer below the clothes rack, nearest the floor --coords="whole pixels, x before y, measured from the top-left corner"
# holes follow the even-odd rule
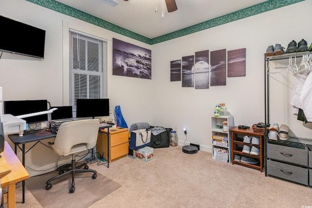
[[[267,173],[279,178],[308,185],[309,171],[307,168],[267,160]]]

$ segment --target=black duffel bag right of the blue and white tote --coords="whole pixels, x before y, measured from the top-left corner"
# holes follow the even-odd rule
[[[170,144],[170,132],[172,128],[153,127],[151,133],[151,147],[165,148]]]

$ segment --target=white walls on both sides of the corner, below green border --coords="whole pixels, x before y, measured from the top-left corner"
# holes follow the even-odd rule
[[[116,105],[121,106],[129,127],[135,122],[172,128],[177,126],[179,145],[183,145],[186,137],[182,129],[186,126],[186,143],[197,143],[201,150],[211,151],[210,116],[216,103],[226,104],[234,116],[234,125],[251,126],[264,121],[263,54],[269,45],[280,43],[287,48],[293,39],[299,42],[304,38],[310,46],[312,28],[306,21],[312,19],[310,8],[312,1],[307,0],[181,38],[147,45],[25,0],[1,0],[0,15],[46,30],[44,60],[2,53],[0,86],[3,88],[3,100],[48,99],[53,105],[66,103],[62,90],[62,21],[66,21],[73,29],[108,39],[108,60],[112,58],[112,38],[152,50],[152,80],[112,76],[112,65],[108,63],[110,105],[112,109]],[[170,82],[172,60],[194,55],[201,50],[239,48],[246,48],[246,76],[227,78],[226,86],[199,90],[182,88],[181,82]],[[274,96],[285,97],[284,93]],[[285,101],[279,105],[288,103]],[[297,136],[311,134],[311,125],[290,122],[296,119],[292,115],[288,116],[288,120],[277,119],[280,117],[276,115],[271,119],[289,124]],[[57,157],[46,150],[43,145],[37,145],[26,154],[26,165],[36,170],[53,167]],[[41,158],[46,159],[43,161]],[[49,165],[44,166],[46,164]],[[31,175],[41,174],[29,172]]]

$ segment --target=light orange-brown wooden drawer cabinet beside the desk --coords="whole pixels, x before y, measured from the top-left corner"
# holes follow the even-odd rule
[[[126,128],[110,128],[109,129],[109,162],[125,157],[129,152],[129,132]],[[98,133],[97,152],[107,160],[107,146],[108,146],[107,129],[101,130]],[[97,154],[97,155],[98,155]]]

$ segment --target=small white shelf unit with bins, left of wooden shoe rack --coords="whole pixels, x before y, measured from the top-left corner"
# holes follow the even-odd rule
[[[227,132],[220,127],[224,121],[228,122]],[[211,116],[211,143],[213,159],[232,163],[232,136],[230,129],[233,127],[233,116]],[[219,139],[216,139],[219,138]],[[226,139],[227,138],[227,139]],[[227,140],[227,141],[226,141]]]

